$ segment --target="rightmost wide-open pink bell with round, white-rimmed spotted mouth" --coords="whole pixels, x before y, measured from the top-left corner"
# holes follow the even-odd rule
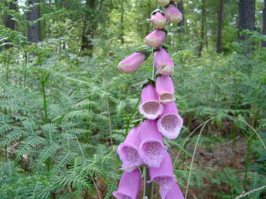
[[[159,115],[158,130],[168,139],[176,139],[183,126],[183,119],[178,114],[175,102],[163,105],[163,113]]]

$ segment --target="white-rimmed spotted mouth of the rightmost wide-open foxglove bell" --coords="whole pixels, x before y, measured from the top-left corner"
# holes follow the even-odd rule
[[[179,114],[174,113],[164,114],[157,122],[158,130],[170,140],[177,138],[182,126],[183,119]]]

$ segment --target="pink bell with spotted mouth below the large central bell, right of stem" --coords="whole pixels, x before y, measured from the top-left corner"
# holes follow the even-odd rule
[[[148,172],[150,181],[148,181],[147,183],[156,181],[160,186],[160,196],[162,199],[164,199],[174,183],[176,183],[170,155],[167,153],[166,156],[163,157],[163,161],[159,168],[149,168]],[[175,199],[175,197],[173,199]]]

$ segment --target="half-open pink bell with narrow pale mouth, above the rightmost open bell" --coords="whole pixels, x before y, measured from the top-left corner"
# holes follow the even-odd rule
[[[175,87],[170,76],[160,75],[155,82],[156,91],[159,94],[159,102],[169,104],[175,101]]]

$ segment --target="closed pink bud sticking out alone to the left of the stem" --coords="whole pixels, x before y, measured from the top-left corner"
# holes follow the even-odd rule
[[[145,60],[145,54],[133,53],[131,56],[124,58],[118,64],[118,69],[123,72],[131,73],[136,71]]]

